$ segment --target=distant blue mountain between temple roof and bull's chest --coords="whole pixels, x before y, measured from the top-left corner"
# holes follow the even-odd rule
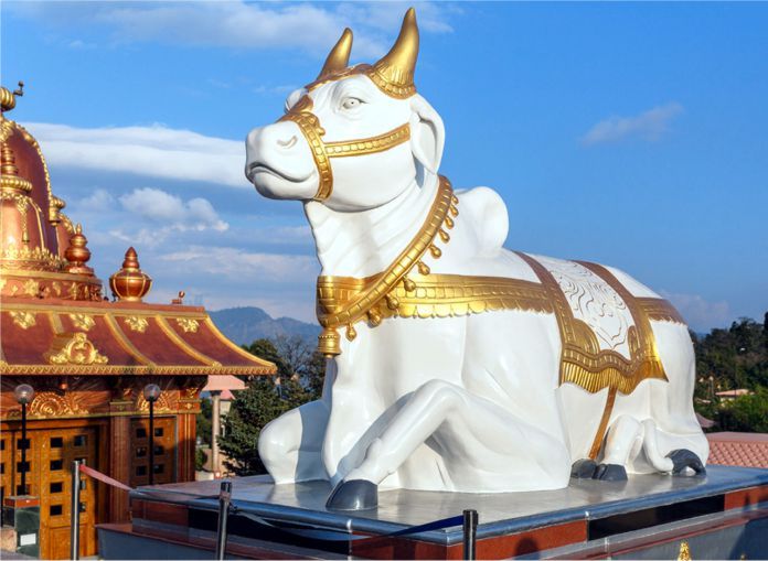
[[[275,320],[260,308],[228,308],[209,314],[216,327],[238,345],[249,345],[256,339],[277,335],[300,335],[316,343],[320,334],[320,326],[317,324],[292,317]]]

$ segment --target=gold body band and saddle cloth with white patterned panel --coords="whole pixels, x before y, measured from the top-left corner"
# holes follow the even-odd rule
[[[412,290],[398,283],[382,293],[367,315],[345,324],[346,336],[354,338],[353,324],[366,320],[375,326],[386,317],[450,317],[497,310],[552,313],[562,341],[561,385],[576,384],[590,392],[609,388],[631,393],[644,379],[666,380],[650,322],[684,323],[666,300],[633,296],[610,271],[596,263],[518,255],[540,282],[412,274]],[[380,277],[319,277],[320,324],[343,327],[335,321],[339,312],[380,284]]]

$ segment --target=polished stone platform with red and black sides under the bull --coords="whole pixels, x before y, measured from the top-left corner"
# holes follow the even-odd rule
[[[288,551],[294,558],[303,557],[302,551],[328,558],[462,558],[463,533],[456,520],[447,528],[391,535],[474,509],[478,558],[642,558],[665,555],[670,548],[676,555],[682,540],[695,550],[707,536],[712,543],[693,551],[694,559],[768,557],[765,540],[754,539],[757,530],[761,537],[768,530],[768,470],[707,470],[706,477],[572,479],[565,489],[532,493],[383,490],[377,509],[352,514],[326,509],[331,488],[324,482],[274,485],[266,476],[234,478],[228,551],[245,558]],[[212,481],[145,487],[146,493],[131,494],[132,526],[122,533],[212,546],[218,486]],[[102,541],[105,536],[102,531]],[[100,554],[109,559],[104,547]]]

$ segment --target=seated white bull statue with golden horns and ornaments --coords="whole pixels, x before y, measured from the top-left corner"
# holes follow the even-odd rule
[[[569,477],[703,474],[694,355],[678,312],[623,272],[502,247],[506,208],[437,174],[442,121],[416,93],[413,9],[374,65],[345,30],[286,115],[247,139],[264,196],[303,202],[322,266],[322,399],[258,441],[275,483],[516,492]]]

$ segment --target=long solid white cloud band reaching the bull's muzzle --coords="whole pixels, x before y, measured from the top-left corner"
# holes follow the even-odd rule
[[[243,172],[242,140],[162,125],[84,129],[31,122],[25,127],[38,138],[52,166],[250,187]]]

